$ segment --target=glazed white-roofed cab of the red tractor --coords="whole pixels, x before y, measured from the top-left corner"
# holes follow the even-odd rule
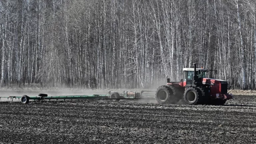
[[[194,68],[183,68],[183,71],[185,72],[183,82],[186,82],[185,85],[192,85],[194,83]],[[207,69],[196,69],[196,75],[198,75],[198,78],[205,78],[206,72]]]

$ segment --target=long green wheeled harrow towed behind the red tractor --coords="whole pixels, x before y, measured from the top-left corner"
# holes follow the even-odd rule
[[[13,99],[18,99],[23,104],[28,104],[30,100],[110,100],[114,102],[118,102],[120,100],[138,100],[138,99],[155,99],[152,94],[154,91],[141,91],[138,92],[131,92],[131,91],[124,91],[123,93],[119,92],[112,92],[109,91],[108,94],[93,94],[93,95],[68,95],[68,96],[48,96],[47,94],[38,94],[38,96],[8,96],[8,97],[0,97],[7,98],[13,101]]]

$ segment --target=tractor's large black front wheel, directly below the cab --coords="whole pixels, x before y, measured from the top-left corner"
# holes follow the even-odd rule
[[[189,105],[199,104],[202,92],[197,87],[189,87],[184,93],[184,101]]]

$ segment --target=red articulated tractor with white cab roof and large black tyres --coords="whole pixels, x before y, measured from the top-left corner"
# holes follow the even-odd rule
[[[167,85],[157,89],[156,100],[158,103],[177,103],[183,97],[189,105],[223,105],[227,100],[233,98],[233,95],[228,93],[227,81],[206,78],[206,73],[212,70],[197,69],[197,64],[193,65],[194,68],[183,68],[184,80],[170,82],[168,78]]]

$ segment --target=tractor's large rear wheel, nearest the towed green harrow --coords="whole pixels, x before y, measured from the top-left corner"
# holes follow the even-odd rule
[[[175,98],[175,89],[169,86],[160,86],[156,90],[156,100],[160,104],[175,104],[177,103],[177,99]]]

